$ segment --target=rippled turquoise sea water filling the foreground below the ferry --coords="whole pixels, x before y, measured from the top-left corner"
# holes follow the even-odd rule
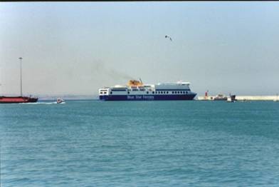
[[[279,102],[0,105],[1,186],[279,186]]]

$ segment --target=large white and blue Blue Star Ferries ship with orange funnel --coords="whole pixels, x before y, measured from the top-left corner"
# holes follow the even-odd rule
[[[196,93],[189,89],[189,82],[142,84],[130,80],[127,86],[112,86],[99,89],[102,101],[154,101],[154,100],[193,100]]]

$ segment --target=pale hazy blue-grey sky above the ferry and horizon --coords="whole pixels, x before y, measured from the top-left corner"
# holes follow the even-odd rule
[[[278,1],[1,2],[0,42],[0,95],[20,93],[20,56],[25,94],[95,95],[131,78],[279,93]]]

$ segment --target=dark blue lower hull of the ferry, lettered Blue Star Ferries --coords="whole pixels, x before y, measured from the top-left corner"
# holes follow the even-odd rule
[[[193,100],[196,94],[184,95],[109,95],[99,96],[103,101],[159,101],[159,100]]]

